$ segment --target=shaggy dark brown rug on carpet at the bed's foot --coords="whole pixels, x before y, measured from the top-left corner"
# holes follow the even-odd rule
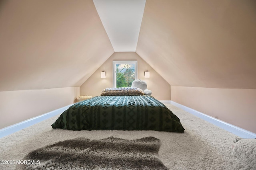
[[[23,160],[34,162],[24,164],[23,169],[168,170],[158,158],[159,149],[160,140],[155,137],[135,140],[80,137],[30,152]]]

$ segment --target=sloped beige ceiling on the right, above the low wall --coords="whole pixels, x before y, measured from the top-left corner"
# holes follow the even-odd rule
[[[147,0],[136,53],[173,86],[256,88],[255,0]]]

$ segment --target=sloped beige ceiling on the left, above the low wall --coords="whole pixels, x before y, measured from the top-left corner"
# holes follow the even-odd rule
[[[81,86],[113,53],[92,0],[0,1],[0,91]]]

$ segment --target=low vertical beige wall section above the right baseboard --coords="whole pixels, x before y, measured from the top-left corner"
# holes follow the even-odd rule
[[[172,101],[256,133],[256,90],[171,86]]]

